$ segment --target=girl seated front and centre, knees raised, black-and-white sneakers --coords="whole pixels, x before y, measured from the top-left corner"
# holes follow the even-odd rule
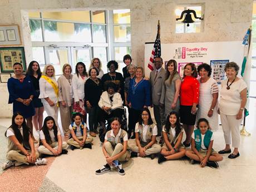
[[[111,171],[110,166],[117,168],[120,175],[125,174],[119,161],[128,161],[130,152],[127,151],[128,135],[125,130],[121,129],[121,121],[118,117],[114,117],[111,122],[111,130],[106,132],[105,141],[102,151],[106,157],[107,164],[102,169],[96,170],[96,175],[101,175]]]

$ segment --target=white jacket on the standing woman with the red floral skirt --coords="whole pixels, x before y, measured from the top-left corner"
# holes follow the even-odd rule
[[[88,77],[83,80],[80,75],[73,75],[72,87],[73,87],[73,98],[75,102],[85,99],[85,82]]]

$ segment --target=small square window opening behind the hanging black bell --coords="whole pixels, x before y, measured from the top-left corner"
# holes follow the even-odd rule
[[[197,17],[202,17],[201,6],[179,6],[175,10],[176,18],[180,18],[181,13],[184,10],[193,9],[196,12]],[[194,15],[192,15],[192,19],[195,21],[194,23],[189,23],[189,27],[186,26],[186,23],[182,23],[185,18],[185,14],[182,20],[176,21],[176,33],[200,33],[201,32],[201,20],[195,19]]]

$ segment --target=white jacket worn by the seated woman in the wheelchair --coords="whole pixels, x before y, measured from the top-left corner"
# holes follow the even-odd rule
[[[107,95],[107,91],[104,91],[100,96],[100,101],[98,103],[99,107],[111,107],[112,110],[121,108],[122,109],[122,97],[120,93],[115,93],[113,96],[113,102],[111,105],[109,95]]]

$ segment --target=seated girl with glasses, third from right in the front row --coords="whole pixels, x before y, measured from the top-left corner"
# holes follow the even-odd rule
[[[129,140],[131,157],[149,156],[155,158],[155,154],[161,151],[161,146],[156,144],[157,127],[153,123],[150,111],[144,108],[140,114],[139,122],[135,125],[135,140]]]

